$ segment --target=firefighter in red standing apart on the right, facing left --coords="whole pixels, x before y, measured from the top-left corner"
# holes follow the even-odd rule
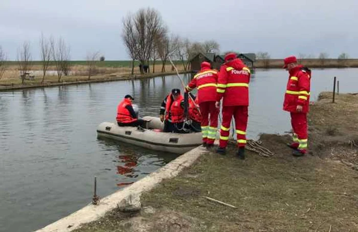
[[[309,91],[311,71],[297,64],[295,56],[284,59],[284,69],[289,72],[283,110],[290,112],[293,128],[294,156],[303,156],[307,151],[307,113],[309,110]]]

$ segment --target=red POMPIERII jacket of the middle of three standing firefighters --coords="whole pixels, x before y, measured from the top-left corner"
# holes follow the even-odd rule
[[[216,101],[223,98],[222,106],[249,106],[250,69],[241,59],[233,59],[220,68]]]

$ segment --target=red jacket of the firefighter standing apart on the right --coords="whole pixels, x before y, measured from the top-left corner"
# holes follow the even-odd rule
[[[309,111],[311,71],[303,66],[289,70],[289,77],[283,102],[283,110],[296,112],[297,106],[302,106],[302,112]]]

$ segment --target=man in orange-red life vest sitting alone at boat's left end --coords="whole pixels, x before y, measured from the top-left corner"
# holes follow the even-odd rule
[[[143,119],[138,119],[136,112],[133,110],[132,101],[134,98],[130,95],[125,95],[124,99],[117,107],[117,123],[119,126],[142,126]]]

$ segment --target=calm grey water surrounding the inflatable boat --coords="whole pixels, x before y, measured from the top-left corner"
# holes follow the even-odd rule
[[[311,99],[332,89],[358,92],[357,69],[314,70]],[[184,77],[184,82],[189,80]],[[248,137],[289,130],[282,111],[287,72],[257,70],[250,83]],[[0,231],[32,231],[91,202],[94,176],[104,197],[155,171],[176,155],[97,140],[131,94],[140,115],[158,115],[176,76],[0,92]]]

